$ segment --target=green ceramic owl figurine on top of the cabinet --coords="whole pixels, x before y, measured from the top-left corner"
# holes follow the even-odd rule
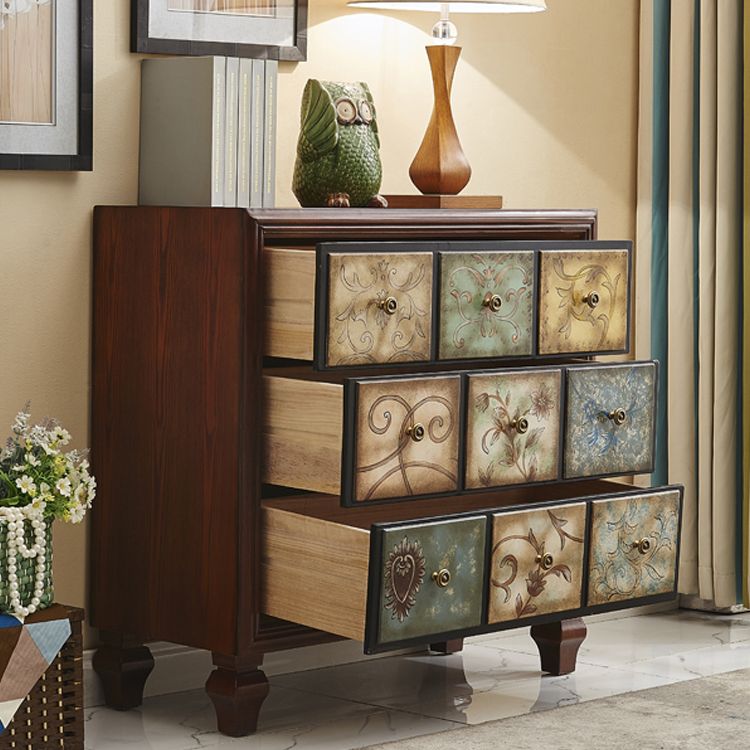
[[[383,173],[379,149],[366,83],[307,82],[292,181],[302,206],[377,203]]]

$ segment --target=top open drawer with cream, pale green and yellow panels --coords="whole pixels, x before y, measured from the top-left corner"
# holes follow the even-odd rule
[[[319,369],[627,352],[632,245],[265,249],[265,354]]]

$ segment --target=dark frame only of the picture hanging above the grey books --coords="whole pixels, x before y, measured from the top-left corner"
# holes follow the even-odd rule
[[[185,39],[162,39],[149,36],[151,5],[160,0],[132,0],[131,50],[156,55],[225,55],[254,57],[263,60],[307,59],[307,0],[294,0],[294,44],[246,44]]]

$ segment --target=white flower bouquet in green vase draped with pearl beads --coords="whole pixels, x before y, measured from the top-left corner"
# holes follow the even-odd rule
[[[52,521],[79,523],[96,494],[85,456],[63,450],[70,433],[29,425],[28,409],[0,451],[0,611],[18,617],[52,603]]]

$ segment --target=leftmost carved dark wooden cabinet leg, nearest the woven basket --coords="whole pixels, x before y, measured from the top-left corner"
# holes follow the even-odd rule
[[[119,633],[101,632],[101,645],[93,659],[94,671],[110,708],[127,711],[143,703],[143,688],[154,668],[147,646]]]

